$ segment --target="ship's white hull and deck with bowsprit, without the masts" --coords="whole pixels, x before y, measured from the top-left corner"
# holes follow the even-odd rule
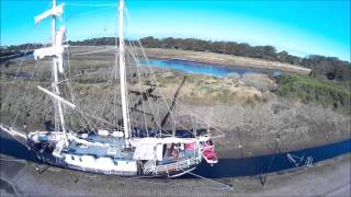
[[[124,138],[73,132],[68,132],[70,146],[65,147],[63,132],[34,131],[23,135],[10,127],[0,126],[1,130],[11,136],[25,138],[32,151],[45,163],[118,176],[177,177],[194,170],[204,158],[203,151],[211,147],[206,143],[210,138],[197,137],[135,138],[132,148],[126,148]],[[152,153],[156,155],[152,157]]]

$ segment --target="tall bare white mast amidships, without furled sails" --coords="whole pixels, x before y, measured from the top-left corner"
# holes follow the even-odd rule
[[[118,10],[118,36],[120,36],[120,81],[121,81],[121,100],[122,100],[122,115],[123,115],[123,128],[124,137],[128,139],[131,137],[129,125],[129,112],[128,112],[128,97],[126,85],[126,70],[125,70],[125,51],[124,51],[124,36],[123,36],[123,12],[124,0],[120,0]]]

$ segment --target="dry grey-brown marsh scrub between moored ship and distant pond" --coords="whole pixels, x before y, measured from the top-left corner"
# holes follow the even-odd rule
[[[76,49],[77,53],[81,51]],[[87,58],[72,56],[69,73],[75,103],[80,109],[109,120],[116,119],[113,116],[113,95],[109,94],[106,85],[112,74],[112,55],[113,53],[105,53],[89,55]],[[19,80],[13,82],[12,76],[16,72],[18,65],[14,61],[1,65],[1,121],[11,124],[18,114],[18,126],[26,124],[37,129],[37,123],[53,120],[52,100],[36,89],[37,84],[49,86],[49,65],[46,60],[42,61],[34,81],[30,82],[27,77],[34,67],[32,60],[25,60]],[[132,68],[129,71],[133,73],[135,70]],[[276,140],[280,150],[286,151],[350,138],[349,109],[339,111],[333,105],[320,105],[315,101],[302,102],[293,96],[282,97],[282,94],[276,94],[276,91],[281,90],[276,81],[267,74],[215,78],[157,68],[154,68],[154,71],[159,81],[159,91],[155,94],[169,99],[173,96],[182,79],[186,78],[179,92],[179,101],[184,105],[177,107],[178,118],[186,125],[190,120],[182,107],[189,107],[223,130],[225,138],[216,139],[220,157],[248,157],[272,152]],[[146,68],[141,69],[140,73],[146,81],[150,79]],[[149,84],[136,81],[128,85],[132,90],[138,90],[141,85],[149,88]],[[23,96],[24,93],[26,94]],[[68,94],[65,91],[64,93]],[[131,94],[132,103],[138,97]],[[143,108],[139,106],[136,109]],[[149,105],[144,109],[151,112],[155,108]],[[158,109],[160,116],[167,113],[166,105],[158,105]],[[66,113],[67,124],[71,129],[86,126],[81,114],[70,109],[66,109]],[[139,115],[136,112],[134,117],[138,119]]]

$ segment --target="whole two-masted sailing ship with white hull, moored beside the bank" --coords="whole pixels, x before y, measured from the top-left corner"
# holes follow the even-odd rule
[[[60,84],[65,73],[65,26],[57,28],[57,19],[61,16],[65,4],[56,4],[35,18],[35,23],[52,19],[52,46],[34,50],[34,59],[48,58],[52,61],[50,89],[37,86],[50,96],[54,103],[55,129],[47,131],[23,132],[14,127],[1,124],[1,130],[21,138],[36,153],[37,158],[50,165],[73,169],[83,172],[121,176],[166,176],[176,177],[196,167],[203,160],[217,163],[211,129],[196,128],[171,130],[169,135],[160,126],[147,128],[148,135],[140,134],[143,128],[132,125],[126,74],[126,48],[124,40],[124,1],[118,4],[118,38],[115,46],[115,70],[120,82],[120,102],[122,121],[111,128],[94,128],[78,132],[67,128],[65,111],[79,108],[75,102],[61,96]],[[176,121],[176,120],[174,120]],[[208,125],[208,124],[207,124]],[[150,135],[152,134],[152,135]]]

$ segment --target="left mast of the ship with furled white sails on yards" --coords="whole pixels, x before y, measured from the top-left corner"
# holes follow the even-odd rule
[[[69,141],[68,141],[66,126],[65,126],[63,104],[68,104],[68,106],[70,105],[71,107],[75,107],[75,105],[69,103],[68,101],[65,101],[59,96],[60,94],[59,86],[58,86],[58,84],[60,83],[59,73],[64,73],[63,38],[65,35],[66,28],[65,26],[61,26],[59,31],[56,31],[56,18],[61,16],[63,12],[64,12],[64,4],[56,5],[56,0],[53,0],[53,8],[50,10],[47,10],[46,12],[35,16],[36,24],[46,18],[49,18],[49,16],[53,18],[53,24],[52,24],[53,39],[52,39],[52,47],[36,49],[34,51],[34,58],[35,59],[42,59],[45,57],[52,58],[53,92],[49,92],[41,86],[38,88],[39,90],[44,91],[45,93],[49,94],[53,97],[54,114],[55,114],[55,131],[59,130],[59,125],[60,125],[60,128],[64,132],[65,144],[68,147]],[[59,116],[59,123],[57,120],[57,116]]]

